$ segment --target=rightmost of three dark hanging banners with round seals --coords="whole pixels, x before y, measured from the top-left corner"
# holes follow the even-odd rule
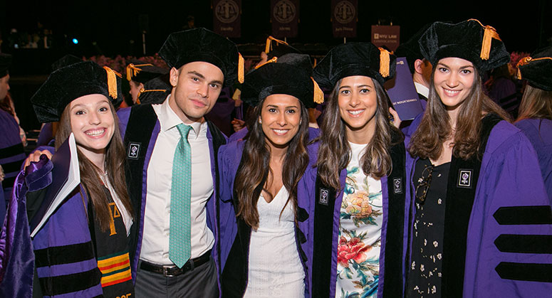
[[[332,0],[333,37],[356,37],[358,0]]]

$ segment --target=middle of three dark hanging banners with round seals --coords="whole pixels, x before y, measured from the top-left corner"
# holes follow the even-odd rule
[[[299,0],[271,0],[272,36],[296,37],[299,23]]]

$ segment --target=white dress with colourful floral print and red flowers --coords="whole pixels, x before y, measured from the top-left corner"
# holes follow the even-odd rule
[[[341,202],[335,297],[377,297],[382,190],[360,167],[366,144],[349,143],[351,159]]]

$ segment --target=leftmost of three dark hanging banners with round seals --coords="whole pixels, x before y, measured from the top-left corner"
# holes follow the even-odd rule
[[[213,0],[213,31],[226,37],[241,36],[241,0]]]

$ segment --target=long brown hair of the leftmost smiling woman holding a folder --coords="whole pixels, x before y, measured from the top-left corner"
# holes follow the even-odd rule
[[[108,100],[109,102],[109,100]],[[56,149],[58,149],[63,142],[71,134],[71,105],[67,105],[58,124],[58,130],[56,132]],[[115,193],[119,196],[123,206],[127,209],[128,213],[132,215],[132,205],[130,204],[130,198],[127,193],[127,186],[125,183],[125,147],[123,145],[123,138],[119,132],[119,118],[115,113],[115,107],[109,102],[111,114],[114,119],[114,132],[111,142],[105,151],[105,171],[108,173],[108,179]],[[105,197],[105,190],[103,183],[100,179],[100,169],[95,166],[86,156],[77,148],[78,167],[80,170],[80,183],[88,194],[88,198],[92,201],[92,205],[95,211],[96,219],[100,223],[100,229],[108,230],[111,215],[108,205],[108,200]]]

